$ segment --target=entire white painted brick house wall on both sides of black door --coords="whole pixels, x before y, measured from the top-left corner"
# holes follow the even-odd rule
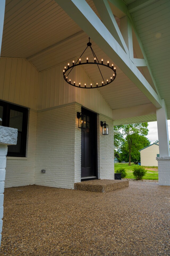
[[[77,111],[81,112],[77,103],[38,113],[30,111],[27,158],[8,157],[5,187],[37,184],[73,189],[74,183],[81,181]],[[109,135],[102,135],[100,121],[109,125]],[[98,176],[114,179],[113,121],[98,115],[97,131]]]

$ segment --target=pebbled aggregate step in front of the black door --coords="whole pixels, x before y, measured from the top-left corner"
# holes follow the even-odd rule
[[[129,186],[129,181],[113,179],[95,179],[92,181],[82,181],[74,183],[75,190],[84,190],[91,192],[111,192],[116,189],[122,189]]]

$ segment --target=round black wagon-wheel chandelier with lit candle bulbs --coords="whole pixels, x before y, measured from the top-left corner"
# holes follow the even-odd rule
[[[99,87],[103,87],[103,86],[105,86],[105,85],[109,85],[109,84],[112,83],[112,82],[114,81],[114,79],[116,78],[116,67],[114,67],[113,64],[112,64],[112,66],[109,66],[109,61],[107,61],[107,65],[104,64],[104,63],[103,63],[103,59],[101,59],[101,63],[100,63],[99,60],[98,60],[97,57],[96,57],[96,54],[94,53],[94,50],[93,50],[92,47],[91,47],[92,43],[90,42],[90,37],[89,37],[88,39],[89,39],[89,42],[87,43],[86,49],[87,49],[88,47],[90,47],[90,49],[91,49],[91,51],[92,51],[92,54],[93,54],[93,56],[94,56],[94,62],[89,62],[88,57],[86,58],[86,62],[83,62],[83,63],[81,62],[81,57],[82,57],[83,53],[86,51],[86,49],[85,49],[85,50],[83,51],[82,55],[81,55],[81,56],[79,57],[79,59],[77,60],[76,63],[74,63],[74,60],[73,60],[72,66],[70,66],[70,63],[68,63],[67,68],[66,68],[66,66],[64,67],[64,70],[63,70],[63,77],[64,77],[64,80],[65,80],[67,83],[69,83],[70,85],[73,85],[73,86],[78,87],[78,88],[86,88],[86,89],[99,88]],[[101,74],[101,77],[102,77],[103,81],[101,81],[100,84],[95,83],[94,86],[92,85],[92,83],[91,83],[90,85],[86,85],[86,83],[85,83],[83,86],[80,84],[80,82],[79,82],[79,83],[76,83],[76,82],[74,81],[74,83],[71,83],[71,79],[69,79],[68,76],[69,76],[70,72],[73,70],[73,68],[76,67],[76,66],[87,65],[87,64],[97,65],[97,67],[98,67],[98,69],[99,69],[99,71],[100,71],[100,74]],[[103,75],[102,75],[102,73],[101,73],[101,70],[100,70],[100,67],[99,67],[99,66],[104,66],[104,67],[107,67],[107,68],[109,68],[109,69],[112,70],[113,77],[111,76],[110,81],[108,81],[108,79],[107,79],[106,82],[104,81],[104,78],[103,78]],[[70,70],[70,71],[69,71],[69,70]],[[67,73],[67,71],[69,71],[69,73]]]

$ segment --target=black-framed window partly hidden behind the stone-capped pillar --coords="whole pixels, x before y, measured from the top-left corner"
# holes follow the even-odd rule
[[[8,157],[25,157],[28,109],[0,101],[0,125],[18,129],[16,145],[8,146]]]

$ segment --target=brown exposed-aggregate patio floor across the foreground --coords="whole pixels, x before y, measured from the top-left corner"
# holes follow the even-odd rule
[[[5,189],[1,255],[170,255],[170,187]]]

